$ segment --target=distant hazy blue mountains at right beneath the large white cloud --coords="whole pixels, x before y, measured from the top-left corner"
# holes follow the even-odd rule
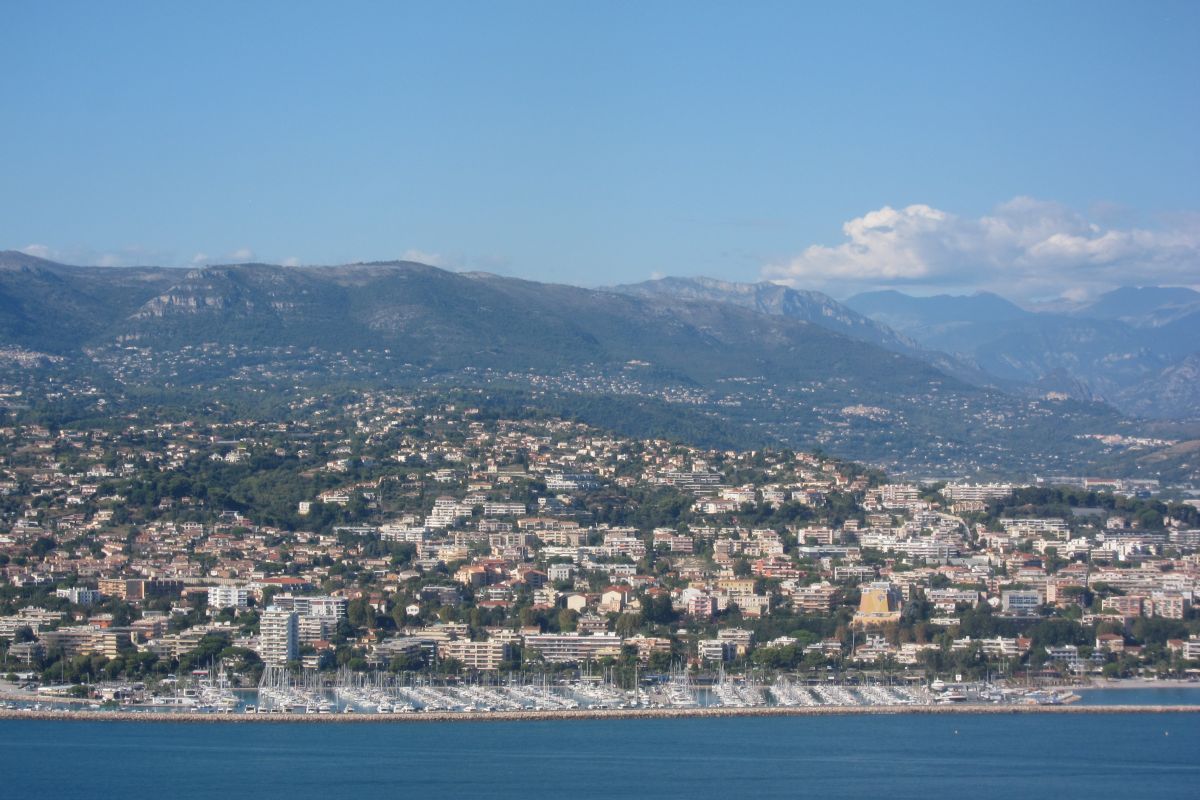
[[[888,290],[840,303],[820,291],[710,278],[616,290],[803,319],[979,386],[1061,392],[1146,417],[1200,414],[1200,293],[1192,289],[1116,289],[1068,312],[1027,311],[989,293],[913,297]]]

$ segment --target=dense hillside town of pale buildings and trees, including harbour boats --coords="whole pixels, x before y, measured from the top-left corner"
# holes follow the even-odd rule
[[[1200,509],[1153,482],[904,483],[486,401],[11,417],[0,699],[896,704],[1200,675]]]

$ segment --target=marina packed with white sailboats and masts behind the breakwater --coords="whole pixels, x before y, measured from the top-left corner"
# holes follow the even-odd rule
[[[0,711],[109,717],[116,714],[126,717],[149,714],[156,717],[378,718],[436,715],[439,718],[481,718],[524,714],[587,716],[612,711],[774,714],[936,711],[955,706],[1025,709],[1069,706],[1080,699],[1072,688],[992,684],[821,684],[782,675],[768,684],[724,672],[700,681],[683,670],[654,675],[635,686],[622,687],[611,675],[552,680],[544,674],[510,674],[491,680],[463,681],[349,670],[330,676],[268,667],[254,688],[233,687],[223,672],[203,674],[193,681],[172,680],[156,692],[149,692],[142,685],[103,686],[100,693],[110,698],[104,702],[62,697],[53,692],[54,687],[48,688],[50,691],[2,691]]]

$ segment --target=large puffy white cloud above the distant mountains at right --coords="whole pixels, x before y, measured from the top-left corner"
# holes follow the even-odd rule
[[[1057,203],[1018,197],[990,215],[884,206],[846,222],[846,240],[763,269],[796,287],[992,289],[1016,297],[1086,296],[1116,285],[1200,282],[1200,216],[1112,228]]]

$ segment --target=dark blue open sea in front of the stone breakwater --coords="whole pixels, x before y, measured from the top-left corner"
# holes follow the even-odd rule
[[[5,798],[1195,796],[1200,717],[0,721]]]

